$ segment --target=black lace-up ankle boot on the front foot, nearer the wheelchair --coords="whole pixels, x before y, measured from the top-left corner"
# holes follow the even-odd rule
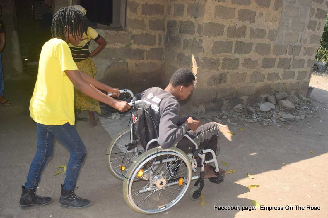
[[[59,205],[71,207],[71,208],[84,208],[91,204],[91,201],[80,198],[75,195],[74,189],[67,191],[64,189],[64,185],[61,185],[62,193],[59,198]]]

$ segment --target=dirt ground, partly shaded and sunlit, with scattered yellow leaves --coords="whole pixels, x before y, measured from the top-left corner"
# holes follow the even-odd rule
[[[191,201],[185,195],[176,206],[156,217],[327,217],[328,79],[314,74],[310,85],[316,87],[311,98],[322,108],[321,112],[311,119],[280,127],[254,124],[221,128],[218,162],[226,162],[229,167],[220,166],[226,170],[236,169],[236,172],[226,175],[219,185],[205,181],[204,206],[200,206],[201,200]],[[55,166],[67,163],[69,153],[55,142],[54,154],[37,191],[51,196],[53,201],[43,207],[19,208],[21,185],[36,151],[36,128],[28,111],[33,86],[33,80],[5,83],[5,93],[12,105],[0,106],[0,217],[144,217],[126,205],[122,182],[107,169],[104,151],[111,138],[101,125],[90,128],[89,123],[83,121],[78,121],[76,126],[88,155],[76,193],[90,199],[92,205],[81,210],[58,205],[60,184],[65,175],[54,176]],[[88,117],[86,113],[82,115]],[[259,187],[250,190],[249,185]],[[251,200],[266,207],[283,207],[283,210],[241,210],[252,207]],[[214,210],[215,206],[239,206],[240,210]],[[296,210],[296,206],[305,208]],[[320,206],[320,210],[307,210],[307,206]]]

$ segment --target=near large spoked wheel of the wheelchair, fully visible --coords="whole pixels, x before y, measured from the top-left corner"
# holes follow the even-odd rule
[[[128,206],[144,214],[160,213],[178,203],[192,178],[188,156],[178,148],[150,149],[126,174],[123,196]]]

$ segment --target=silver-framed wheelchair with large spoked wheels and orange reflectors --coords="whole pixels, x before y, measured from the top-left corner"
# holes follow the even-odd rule
[[[130,90],[120,92],[127,92],[133,97]],[[139,100],[129,104],[135,107],[145,105],[145,102]],[[164,212],[182,199],[192,180],[196,182],[188,196],[191,200],[199,199],[204,187],[204,164],[214,163],[215,171],[219,173],[215,152],[211,149],[199,151],[197,143],[187,134],[185,137],[194,145],[194,153],[186,154],[176,148],[177,143],[165,149],[160,146],[150,148],[157,139],[145,146],[137,145],[133,140],[132,125],[111,141],[106,158],[112,175],[123,180],[123,196],[127,205],[143,214]],[[208,153],[212,159],[205,160]],[[195,157],[200,158],[202,163],[197,176],[193,176],[197,168]],[[223,182],[224,175],[219,176],[219,182]]]

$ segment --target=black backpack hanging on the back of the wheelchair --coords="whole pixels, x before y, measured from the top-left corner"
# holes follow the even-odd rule
[[[139,100],[137,96],[133,97],[133,100]],[[146,149],[146,145],[152,139],[158,138],[157,127],[154,124],[152,118],[152,106],[151,105],[136,105],[132,109],[132,123],[133,123],[133,139],[136,144]],[[150,144],[149,148],[157,146],[157,142]]]

